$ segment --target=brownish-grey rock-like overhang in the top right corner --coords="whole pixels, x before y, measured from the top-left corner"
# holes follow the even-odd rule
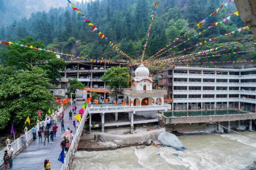
[[[250,28],[256,36],[256,1],[255,0],[234,0],[242,21]]]

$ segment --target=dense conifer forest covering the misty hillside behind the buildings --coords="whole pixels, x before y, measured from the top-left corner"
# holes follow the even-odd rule
[[[158,50],[168,45],[174,38],[186,33],[197,23],[205,19],[228,0],[159,0],[156,8],[154,22],[150,30],[150,37],[146,49],[145,59],[154,55]],[[72,2],[72,1],[71,1]],[[150,24],[150,15],[155,0],[95,0],[75,3],[77,8],[85,14],[86,18],[97,26],[111,41],[122,51],[134,59],[142,55],[143,44],[147,36]],[[65,3],[65,1],[63,1]],[[1,10],[1,8],[0,8]],[[3,10],[3,9],[2,9]],[[207,29],[212,23],[216,23],[233,14],[236,10],[233,1],[228,3],[210,17],[200,28],[195,27],[186,37],[180,38],[176,44],[193,37],[202,30]],[[11,23],[13,23],[12,21]],[[223,22],[193,37],[190,41],[180,45],[165,55],[184,48],[193,47],[194,44],[230,33],[245,24],[239,16],[232,16],[227,22]],[[19,38],[32,36],[35,40],[42,40],[48,49],[62,53],[72,53],[76,56],[84,56],[91,59],[97,58],[124,58],[113,48],[92,32],[88,24],[77,15],[70,5],[65,8],[51,8],[49,12],[34,11],[29,18],[23,18],[15,23],[15,26],[0,25],[1,41],[18,41]],[[187,52],[198,52],[210,48],[219,47],[234,41],[252,38],[249,30],[241,33],[224,36]],[[228,48],[241,47],[239,51],[252,49],[252,41],[230,45]],[[3,47],[2,49],[3,50]],[[233,50],[230,50],[233,51]],[[225,51],[226,53],[227,51]],[[254,59],[256,53],[237,55],[237,59]],[[203,61],[221,61],[221,58],[207,58]],[[225,60],[234,60],[234,56],[227,56]]]

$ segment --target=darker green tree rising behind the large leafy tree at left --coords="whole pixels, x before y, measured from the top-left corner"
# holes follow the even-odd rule
[[[33,37],[26,37],[19,41],[19,44],[30,45],[33,48],[45,48],[42,41],[33,41]],[[46,70],[48,78],[55,83],[61,77],[58,70],[64,70],[65,61],[56,58],[54,53],[34,50],[33,48],[20,47],[18,45],[8,45],[7,50],[4,51],[6,65],[14,66],[17,69],[31,71],[34,66],[41,67]]]

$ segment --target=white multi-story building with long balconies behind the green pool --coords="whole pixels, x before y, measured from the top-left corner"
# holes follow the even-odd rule
[[[159,86],[172,90],[168,90],[172,110],[238,108],[255,112],[256,68],[174,67],[159,76],[161,73]]]

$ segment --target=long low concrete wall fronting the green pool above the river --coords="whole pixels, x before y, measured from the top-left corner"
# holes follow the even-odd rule
[[[192,117],[171,117],[162,116],[162,121],[166,124],[179,123],[204,123],[204,122],[225,122],[256,119],[256,114],[236,114],[236,115],[214,115],[214,116],[192,116]]]

